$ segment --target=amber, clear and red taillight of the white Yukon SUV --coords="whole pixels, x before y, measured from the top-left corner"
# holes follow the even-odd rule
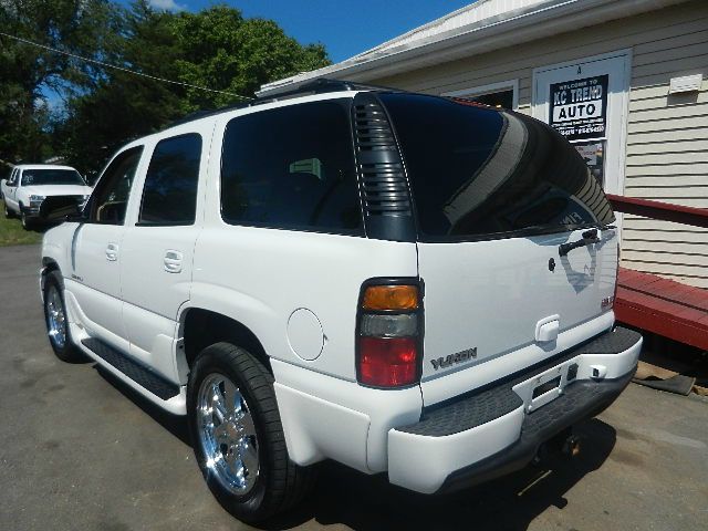
[[[420,378],[420,289],[416,284],[373,283],[362,288],[358,310],[357,378],[375,387],[403,387]]]

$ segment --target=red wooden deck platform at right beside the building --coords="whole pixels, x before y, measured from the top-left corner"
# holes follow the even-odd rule
[[[708,290],[620,269],[617,321],[708,350]]]

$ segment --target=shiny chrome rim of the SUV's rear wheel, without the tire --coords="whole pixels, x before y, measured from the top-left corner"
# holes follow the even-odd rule
[[[260,470],[251,410],[227,376],[209,374],[197,396],[197,430],[206,467],[231,493],[249,492]]]

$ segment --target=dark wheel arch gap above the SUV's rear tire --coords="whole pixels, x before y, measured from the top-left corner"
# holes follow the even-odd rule
[[[261,341],[251,329],[231,316],[204,308],[187,308],[180,315],[177,336],[180,339],[177,372],[181,382],[187,382],[197,355],[207,346],[222,341],[246,348],[269,373],[273,373]]]

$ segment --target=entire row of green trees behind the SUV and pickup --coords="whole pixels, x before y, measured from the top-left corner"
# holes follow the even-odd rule
[[[321,44],[301,45],[273,21],[214,6],[199,13],[128,9],[111,0],[1,0],[8,33],[155,77],[86,63],[0,37],[0,159],[61,155],[96,171],[121,145],[189,112],[252,96],[261,84],[325,66]],[[61,113],[42,100],[51,88]]]

